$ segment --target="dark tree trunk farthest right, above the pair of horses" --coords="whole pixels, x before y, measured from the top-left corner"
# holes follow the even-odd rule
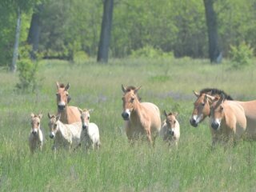
[[[210,62],[220,63],[222,53],[218,45],[217,15],[214,11],[214,0],[203,0],[206,9]]]

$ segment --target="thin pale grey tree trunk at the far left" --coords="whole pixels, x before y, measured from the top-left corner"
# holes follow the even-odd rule
[[[10,66],[10,71],[13,73],[15,73],[17,70],[18,41],[21,33],[21,23],[22,23],[22,14],[21,14],[21,10],[18,7],[18,18],[17,18],[17,26],[16,26],[15,42],[14,42],[14,54],[13,54],[13,61]]]

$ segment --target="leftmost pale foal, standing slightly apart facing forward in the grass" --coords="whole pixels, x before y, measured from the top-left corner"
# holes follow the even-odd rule
[[[42,114],[30,114],[31,117],[31,130],[29,136],[30,151],[34,154],[36,149],[42,150],[43,135],[41,126]]]

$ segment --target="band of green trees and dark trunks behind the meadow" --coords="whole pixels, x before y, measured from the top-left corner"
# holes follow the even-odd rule
[[[2,0],[0,65],[10,66],[24,47],[32,57],[101,60],[150,46],[218,62],[230,46],[254,48],[255,8],[256,0]]]

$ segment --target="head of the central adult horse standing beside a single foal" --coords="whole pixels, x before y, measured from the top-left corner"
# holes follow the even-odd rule
[[[122,91],[124,93],[124,95],[122,96],[122,108],[123,108],[122,118],[126,121],[130,119],[130,113],[138,105],[139,99],[138,99],[137,93],[140,88],[141,86],[139,86],[138,88],[134,87],[134,89],[127,90],[122,85]]]

